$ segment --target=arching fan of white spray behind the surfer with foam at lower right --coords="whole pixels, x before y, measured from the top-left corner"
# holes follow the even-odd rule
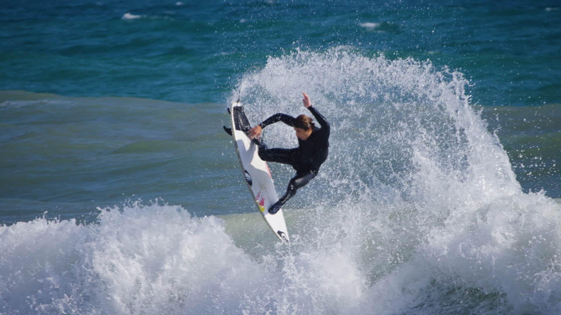
[[[462,73],[430,61],[366,57],[347,47],[270,58],[241,80],[255,121],[300,114],[306,91],[332,122],[328,161],[301,198],[339,209],[319,211],[337,242],[310,238],[335,252],[346,244],[345,256],[367,279],[360,295],[384,305],[361,300],[358,309],[410,313],[430,302],[435,307],[420,313],[435,313],[465,294],[465,305],[482,312],[559,311],[561,282],[552,270],[561,209],[543,193],[522,193],[468,86]],[[269,126],[265,141],[294,146],[284,126]]]

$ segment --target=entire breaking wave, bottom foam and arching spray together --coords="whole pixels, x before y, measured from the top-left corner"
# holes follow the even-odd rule
[[[291,247],[257,214],[158,200],[0,226],[0,312],[558,313],[560,206],[522,192],[467,85],[347,47],[270,57],[229,101],[256,123],[305,113],[306,91],[332,125],[328,160],[286,207]],[[282,124],[264,138],[296,145]],[[282,192],[292,170],[270,168]]]

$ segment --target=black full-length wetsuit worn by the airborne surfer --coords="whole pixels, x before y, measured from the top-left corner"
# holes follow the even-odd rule
[[[298,147],[294,149],[267,149],[267,146],[262,141],[259,141],[259,157],[262,160],[288,164],[296,170],[296,176],[290,180],[284,196],[270,207],[269,212],[272,214],[275,214],[284,203],[292,198],[298,188],[305,186],[312,178],[316,177],[319,167],[327,159],[329,152],[329,123],[318,110],[312,106],[309,106],[308,109],[314,115],[316,122],[320,124],[321,128],[314,127],[311,135],[306,140],[298,138]],[[259,126],[265,128],[269,124],[280,121],[294,127],[295,119],[290,115],[278,113],[265,119]]]

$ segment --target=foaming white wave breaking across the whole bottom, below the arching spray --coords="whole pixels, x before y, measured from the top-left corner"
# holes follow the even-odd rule
[[[257,213],[195,217],[161,200],[98,209],[92,224],[0,226],[0,313],[558,311],[559,203],[502,198],[425,239],[407,237],[406,207],[293,209],[291,247]]]

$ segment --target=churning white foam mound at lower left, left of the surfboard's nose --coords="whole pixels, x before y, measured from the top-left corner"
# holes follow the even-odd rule
[[[0,227],[0,311],[213,313],[262,289],[263,268],[220,219],[139,202],[102,209],[98,219]]]

